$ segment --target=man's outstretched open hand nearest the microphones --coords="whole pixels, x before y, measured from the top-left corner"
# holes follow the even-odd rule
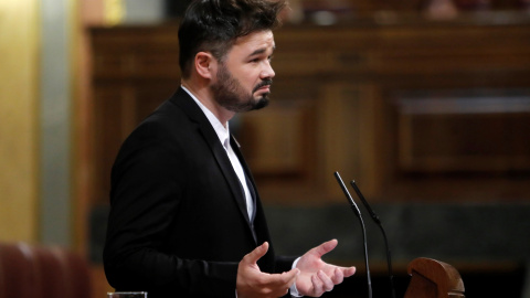
[[[330,291],[335,285],[342,283],[344,277],[356,273],[356,267],[339,267],[322,260],[322,255],[331,252],[337,243],[337,240],[325,242],[300,257],[296,264],[296,268],[300,269],[296,280],[296,288],[300,295],[320,297],[325,291]]]

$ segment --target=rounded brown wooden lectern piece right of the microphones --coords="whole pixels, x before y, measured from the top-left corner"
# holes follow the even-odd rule
[[[409,264],[411,283],[404,298],[465,298],[464,281],[455,267],[420,257]]]

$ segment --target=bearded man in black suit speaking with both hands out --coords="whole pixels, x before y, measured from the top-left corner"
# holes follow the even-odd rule
[[[124,142],[113,168],[105,273],[149,298],[321,296],[354,267],[330,241],[275,256],[229,120],[266,106],[285,0],[193,1],[179,29],[181,87]]]

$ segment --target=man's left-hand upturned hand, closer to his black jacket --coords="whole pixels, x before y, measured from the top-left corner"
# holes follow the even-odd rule
[[[294,268],[283,274],[266,274],[259,270],[257,260],[268,251],[264,243],[243,257],[237,267],[237,298],[280,297],[287,294],[299,270]]]

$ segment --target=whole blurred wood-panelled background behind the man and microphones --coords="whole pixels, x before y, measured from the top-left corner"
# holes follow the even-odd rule
[[[109,171],[179,86],[189,1],[0,2],[0,241],[67,247],[102,269]],[[333,172],[356,180],[406,264],[455,266],[467,297],[530,297],[530,1],[292,0],[275,32],[272,104],[231,127],[276,251],[329,238],[359,274],[362,234]],[[353,192],[352,192],[353,193]],[[356,199],[357,200],[357,199]],[[374,297],[385,249],[365,210]]]

